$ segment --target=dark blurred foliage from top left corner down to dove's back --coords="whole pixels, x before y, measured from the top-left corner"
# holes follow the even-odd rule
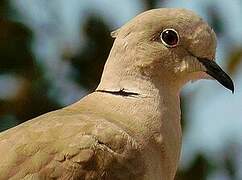
[[[0,99],[0,130],[60,107],[57,100],[48,97],[51,82],[44,79],[44,70],[32,53],[31,30],[10,20],[9,14],[7,1],[1,1],[0,75],[18,77],[22,83],[14,97]]]

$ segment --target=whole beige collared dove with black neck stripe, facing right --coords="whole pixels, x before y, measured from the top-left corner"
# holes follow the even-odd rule
[[[154,9],[112,36],[95,92],[0,134],[1,180],[174,178],[182,86],[210,75],[234,90],[215,33],[190,10]]]

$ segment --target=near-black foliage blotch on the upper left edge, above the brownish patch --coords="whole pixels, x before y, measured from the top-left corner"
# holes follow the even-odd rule
[[[18,73],[28,77],[34,73],[30,41],[31,32],[23,24],[0,19],[0,74]]]

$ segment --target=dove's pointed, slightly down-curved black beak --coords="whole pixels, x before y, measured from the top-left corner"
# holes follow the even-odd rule
[[[216,79],[224,87],[230,89],[234,93],[234,84],[232,79],[226,74],[215,61],[205,58],[198,58],[198,60],[205,66],[206,73]]]

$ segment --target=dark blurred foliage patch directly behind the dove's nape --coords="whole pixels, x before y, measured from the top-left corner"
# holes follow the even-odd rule
[[[75,80],[92,91],[100,81],[113,39],[110,36],[110,27],[98,15],[88,16],[83,27],[86,43],[70,62],[75,70]]]

